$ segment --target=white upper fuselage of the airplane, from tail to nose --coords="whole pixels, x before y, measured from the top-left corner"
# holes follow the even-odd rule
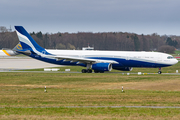
[[[135,52],[135,51],[83,51],[83,50],[50,50],[47,52],[57,56],[72,56],[80,58],[98,58],[109,60],[126,60],[126,62],[133,60],[139,62],[174,65],[178,61],[172,55],[160,52]]]

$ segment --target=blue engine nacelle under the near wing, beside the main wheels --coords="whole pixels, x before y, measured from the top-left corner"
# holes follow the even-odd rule
[[[92,69],[97,71],[111,71],[112,64],[111,63],[96,63],[92,64]]]

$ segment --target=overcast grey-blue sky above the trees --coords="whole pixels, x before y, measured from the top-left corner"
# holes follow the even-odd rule
[[[0,26],[180,36],[179,5],[180,0],[0,0]]]

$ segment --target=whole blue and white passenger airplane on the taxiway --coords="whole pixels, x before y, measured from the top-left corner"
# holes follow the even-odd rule
[[[112,69],[132,71],[133,67],[159,68],[178,63],[172,55],[160,52],[145,51],[97,51],[97,50],[52,50],[44,49],[22,26],[15,26],[19,44],[13,49],[20,53],[44,62],[83,66],[82,73],[104,73]]]

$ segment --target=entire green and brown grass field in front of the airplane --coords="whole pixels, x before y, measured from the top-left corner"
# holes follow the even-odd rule
[[[60,69],[66,68],[81,70],[81,67]],[[162,71],[175,73],[179,68],[178,63]],[[135,68],[132,72],[157,71]],[[180,76],[168,74],[0,73],[0,119],[179,119],[180,108],[110,107],[180,107],[179,86]]]

